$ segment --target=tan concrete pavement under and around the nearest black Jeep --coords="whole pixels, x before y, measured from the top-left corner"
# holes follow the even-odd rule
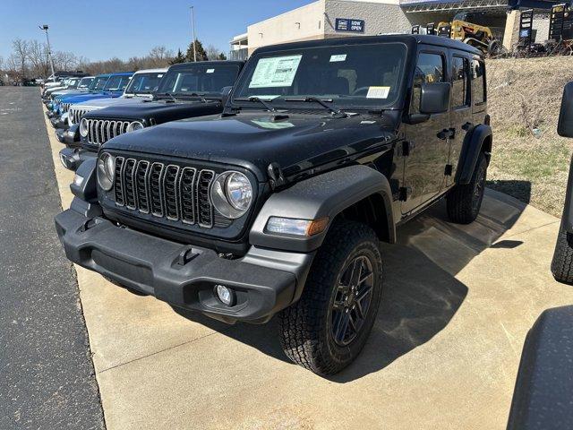
[[[526,332],[573,302],[549,271],[560,221],[490,190],[475,223],[445,219],[437,205],[382,245],[372,335],[331,378],[288,362],[275,320],[227,326],[77,268],[107,428],[504,429]]]

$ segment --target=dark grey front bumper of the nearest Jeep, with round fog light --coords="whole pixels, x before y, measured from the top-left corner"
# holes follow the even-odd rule
[[[266,323],[291,305],[313,258],[312,253],[252,247],[244,257],[227,260],[207,248],[117,227],[102,217],[90,218],[89,206],[75,199],[74,209],[56,216],[68,259],[125,287],[226,323]],[[218,284],[233,289],[235,305],[218,300]]]

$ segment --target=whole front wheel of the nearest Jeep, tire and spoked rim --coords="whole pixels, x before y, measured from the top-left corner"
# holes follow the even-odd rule
[[[378,313],[382,259],[372,228],[340,221],[316,254],[300,300],[280,314],[281,345],[315,374],[336,374],[362,350]]]

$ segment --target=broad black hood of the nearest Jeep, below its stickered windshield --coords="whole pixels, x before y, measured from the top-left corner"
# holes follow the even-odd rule
[[[202,159],[250,168],[264,181],[267,167],[278,162],[286,176],[339,159],[356,159],[396,138],[388,116],[336,118],[289,113],[207,116],[125,133],[105,148],[171,157]]]

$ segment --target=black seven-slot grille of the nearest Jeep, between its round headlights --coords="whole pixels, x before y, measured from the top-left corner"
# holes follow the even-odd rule
[[[116,157],[111,193],[116,206],[134,214],[202,228],[227,227],[231,220],[216,216],[210,200],[215,177],[210,169]]]

